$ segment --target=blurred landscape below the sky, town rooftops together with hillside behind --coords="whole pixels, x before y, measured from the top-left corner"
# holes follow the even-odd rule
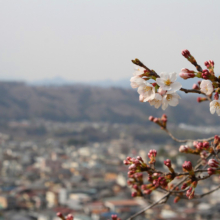
[[[170,158],[179,171],[190,159],[148,121],[154,109],[138,103],[132,90],[23,83],[1,83],[0,90],[0,219],[58,220],[56,213],[62,212],[76,220],[107,220],[112,214],[124,220],[162,196],[131,197],[123,165],[127,156],[147,161],[148,151],[156,149],[158,169],[166,170],[163,161]],[[194,110],[189,103],[195,104]],[[209,110],[204,105],[183,99],[170,108],[168,127],[174,135],[216,134],[219,122],[205,117]],[[196,193],[218,184],[219,178],[212,184],[208,179]],[[135,219],[218,219],[219,214],[217,191],[177,204],[170,198]]]

